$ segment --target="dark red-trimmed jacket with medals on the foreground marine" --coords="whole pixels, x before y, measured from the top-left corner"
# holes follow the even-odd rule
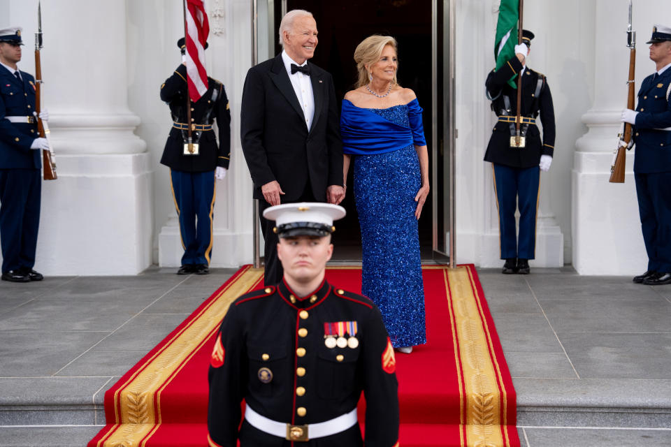
[[[363,390],[366,446],[395,446],[396,360],[380,311],[368,298],[334,289],[326,281],[303,300],[296,296],[282,281],[243,295],[229,307],[209,372],[210,445],[236,446],[243,399],[261,416],[303,425],[352,411]],[[335,342],[338,327],[340,336],[356,342],[329,348],[326,339],[333,335]],[[294,443],[259,432],[245,421],[239,437],[243,447],[361,446],[356,426]]]

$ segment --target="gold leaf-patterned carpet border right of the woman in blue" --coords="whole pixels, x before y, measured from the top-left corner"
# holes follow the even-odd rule
[[[484,329],[470,272],[467,267],[448,269],[447,278],[456,314],[466,388],[466,442],[473,447],[503,446],[499,411],[501,396],[496,380],[498,368],[489,356],[489,337]]]

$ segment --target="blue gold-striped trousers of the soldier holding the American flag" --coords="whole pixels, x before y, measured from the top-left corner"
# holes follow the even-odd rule
[[[210,265],[215,171],[187,173],[171,170],[170,177],[184,247],[182,265]]]

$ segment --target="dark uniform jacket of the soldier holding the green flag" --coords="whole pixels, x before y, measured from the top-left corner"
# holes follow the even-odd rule
[[[538,127],[535,124],[528,124],[526,146],[510,147],[510,137],[515,135],[514,132],[511,133],[510,126],[512,124],[514,129],[515,124],[503,122],[501,117],[514,119],[517,115],[517,89],[510,87],[507,82],[513,75],[520,73],[522,68],[519,59],[512,57],[501,68],[491,71],[487,76],[485,86],[489,97],[492,98],[491,108],[498,115],[499,121],[494,125],[484,160],[514,168],[531,168],[538,165],[541,155],[554,154],[554,106],[547,79],[541,73],[526,67],[522,75],[521,116],[535,119],[540,114],[543,135],[541,140]],[[541,80],[542,84],[540,94],[536,96],[538,80]],[[515,83],[517,84],[517,77]],[[505,96],[510,100],[510,108],[506,107]],[[523,127],[524,124],[520,126],[520,130]]]

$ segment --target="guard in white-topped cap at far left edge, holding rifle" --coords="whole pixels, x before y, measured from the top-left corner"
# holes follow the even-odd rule
[[[21,28],[0,29],[0,242],[2,279],[40,281],[33,270],[40,223],[42,179],[35,117],[35,78],[20,71]],[[40,113],[43,121],[48,112]]]

